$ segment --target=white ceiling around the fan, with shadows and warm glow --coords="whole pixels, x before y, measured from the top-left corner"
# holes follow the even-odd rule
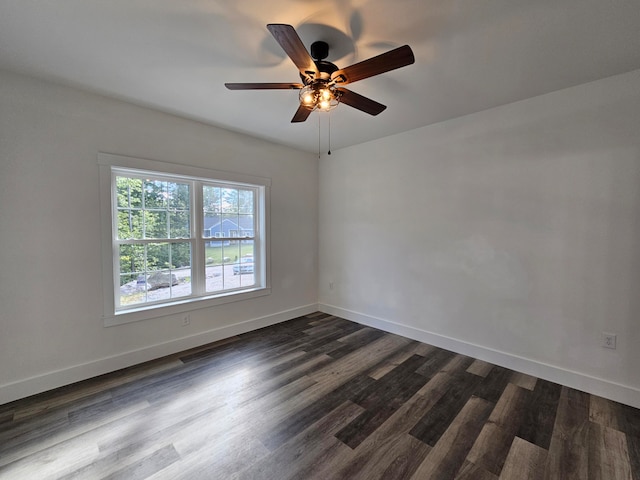
[[[338,106],[334,150],[640,68],[639,0],[0,0],[0,68],[317,152],[296,91],[223,85],[299,81],[267,23],[339,67],[412,47],[414,65],[349,86],[388,108]]]

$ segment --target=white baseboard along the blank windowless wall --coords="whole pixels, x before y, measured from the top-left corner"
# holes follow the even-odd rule
[[[566,385],[567,387],[608,398],[609,400],[624,403],[625,405],[630,405],[635,408],[640,408],[640,390],[628,385],[610,382],[603,378],[566,370],[554,365],[541,363],[333,305],[320,303],[318,304],[318,310],[362,325],[402,335],[403,337],[428,343],[429,345],[444,348],[445,350],[484,360],[485,362],[493,363],[501,367]]]

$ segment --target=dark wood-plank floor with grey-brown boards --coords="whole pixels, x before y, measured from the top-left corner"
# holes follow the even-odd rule
[[[640,411],[316,313],[0,406],[0,478],[640,480]]]

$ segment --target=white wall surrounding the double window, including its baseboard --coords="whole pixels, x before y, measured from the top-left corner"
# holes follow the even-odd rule
[[[105,328],[100,151],[270,178],[271,295]],[[317,185],[315,155],[0,72],[0,404],[314,311]]]

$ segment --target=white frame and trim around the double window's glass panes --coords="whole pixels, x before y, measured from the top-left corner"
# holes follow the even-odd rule
[[[264,177],[222,172],[200,167],[147,160],[108,153],[98,154],[100,168],[100,209],[102,226],[102,266],[103,266],[103,292],[105,326],[120,325],[124,323],[145,320],[149,318],[178,315],[183,312],[206,308],[228,302],[237,302],[255,298],[271,293],[269,276],[269,203],[271,180]],[[205,244],[212,240],[204,236],[202,218],[202,192],[192,189],[191,209],[191,238],[192,242],[191,268],[192,295],[169,299],[162,303],[137,304],[130,307],[118,308],[116,292],[119,289],[119,252],[117,235],[116,199],[114,198],[115,174],[148,173],[153,176],[167,177],[178,181],[192,181],[207,184],[207,182],[224,183],[233,187],[250,187],[256,195],[256,231],[254,232],[254,278],[255,285],[239,290],[227,290],[224,292],[205,292],[204,286],[204,258]],[[200,189],[201,190],[201,189]],[[176,239],[182,241],[182,239]],[[218,240],[218,239],[216,239]],[[202,270],[202,278],[199,278]]]

